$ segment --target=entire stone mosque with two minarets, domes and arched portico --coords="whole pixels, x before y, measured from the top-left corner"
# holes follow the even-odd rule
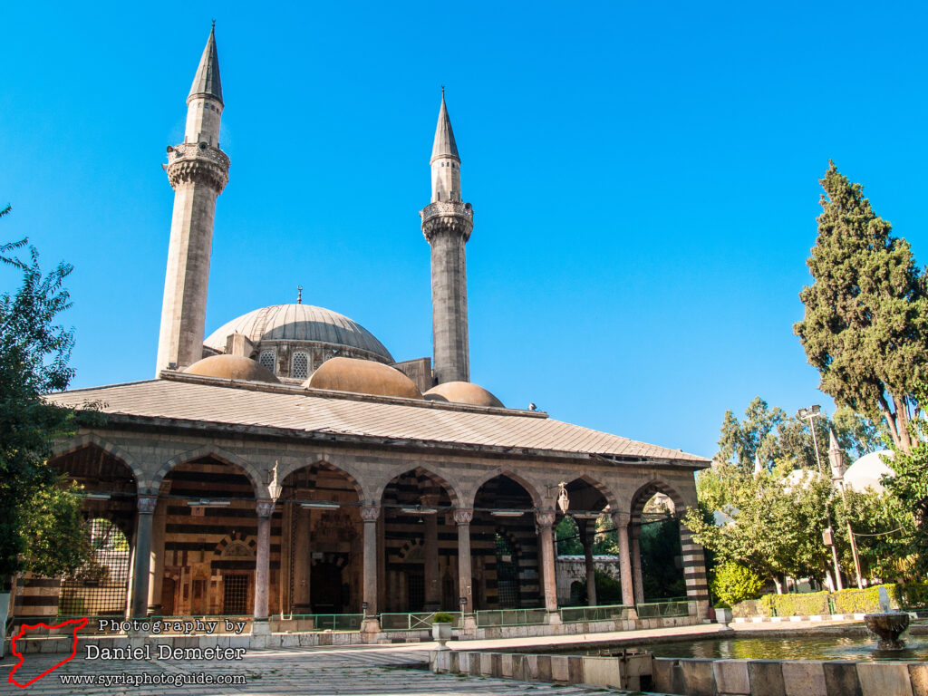
[[[255,309],[206,336],[213,214],[228,181],[225,109],[211,32],[187,97],[174,188],[156,376],[51,394],[105,423],[53,463],[84,485],[85,513],[120,543],[117,590],[20,578],[15,614],[360,616],[535,608],[560,622],[553,527],[577,520],[592,577],[591,522],[618,530],[623,604],[643,602],[645,504],[696,503],[703,458],[504,406],[470,382],[465,247],[474,226],[443,92],[432,200],[432,358],[397,361],[347,316],[303,303]],[[97,529],[97,526],[94,527]],[[708,608],[702,548],[681,525],[690,618]],[[589,601],[596,602],[590,584]],[[64,603],[74,599],[70,609]],[[631,610],[634,616],[634,610]]]

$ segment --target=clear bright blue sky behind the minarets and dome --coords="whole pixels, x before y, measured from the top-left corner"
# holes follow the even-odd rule
[[[161,162],[213,18],[208,332],[303,285],[432,353],[441,84],[476,213],[471,379],[508,406],[707,457],[756,394],[831,410],[792,330],[830,158],[928,260],[922,5],[146,5],[4,10],[0,240],[75,265],[76,387],[153,375]]]

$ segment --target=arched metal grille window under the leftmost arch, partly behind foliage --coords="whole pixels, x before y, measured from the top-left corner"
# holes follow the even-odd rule
[[[115,524],[97,518],[90,522],[93,556],[83,568],[61,583],[61,616],[121,615],[129,584],[129,542]]]

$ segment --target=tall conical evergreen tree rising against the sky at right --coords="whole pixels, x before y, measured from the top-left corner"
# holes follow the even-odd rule
[[[925,278],[862,186],[833,162],[820,183],[818,239],[806,262],[814,282],[799,293],[806,316],[793,330],[821,374],[821,391],[884,420],[896,447],[909,452],[912,390],[928,376]]]

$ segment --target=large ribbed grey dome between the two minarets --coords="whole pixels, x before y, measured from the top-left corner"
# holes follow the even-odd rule
[[[257,344],[265,341],[306,341],[350,346],[395,362],[383,343],[347,316],[312,304],[274,304],[239,316],[213,331],[203,343],[226,350],[226,338],[234,333]]]

